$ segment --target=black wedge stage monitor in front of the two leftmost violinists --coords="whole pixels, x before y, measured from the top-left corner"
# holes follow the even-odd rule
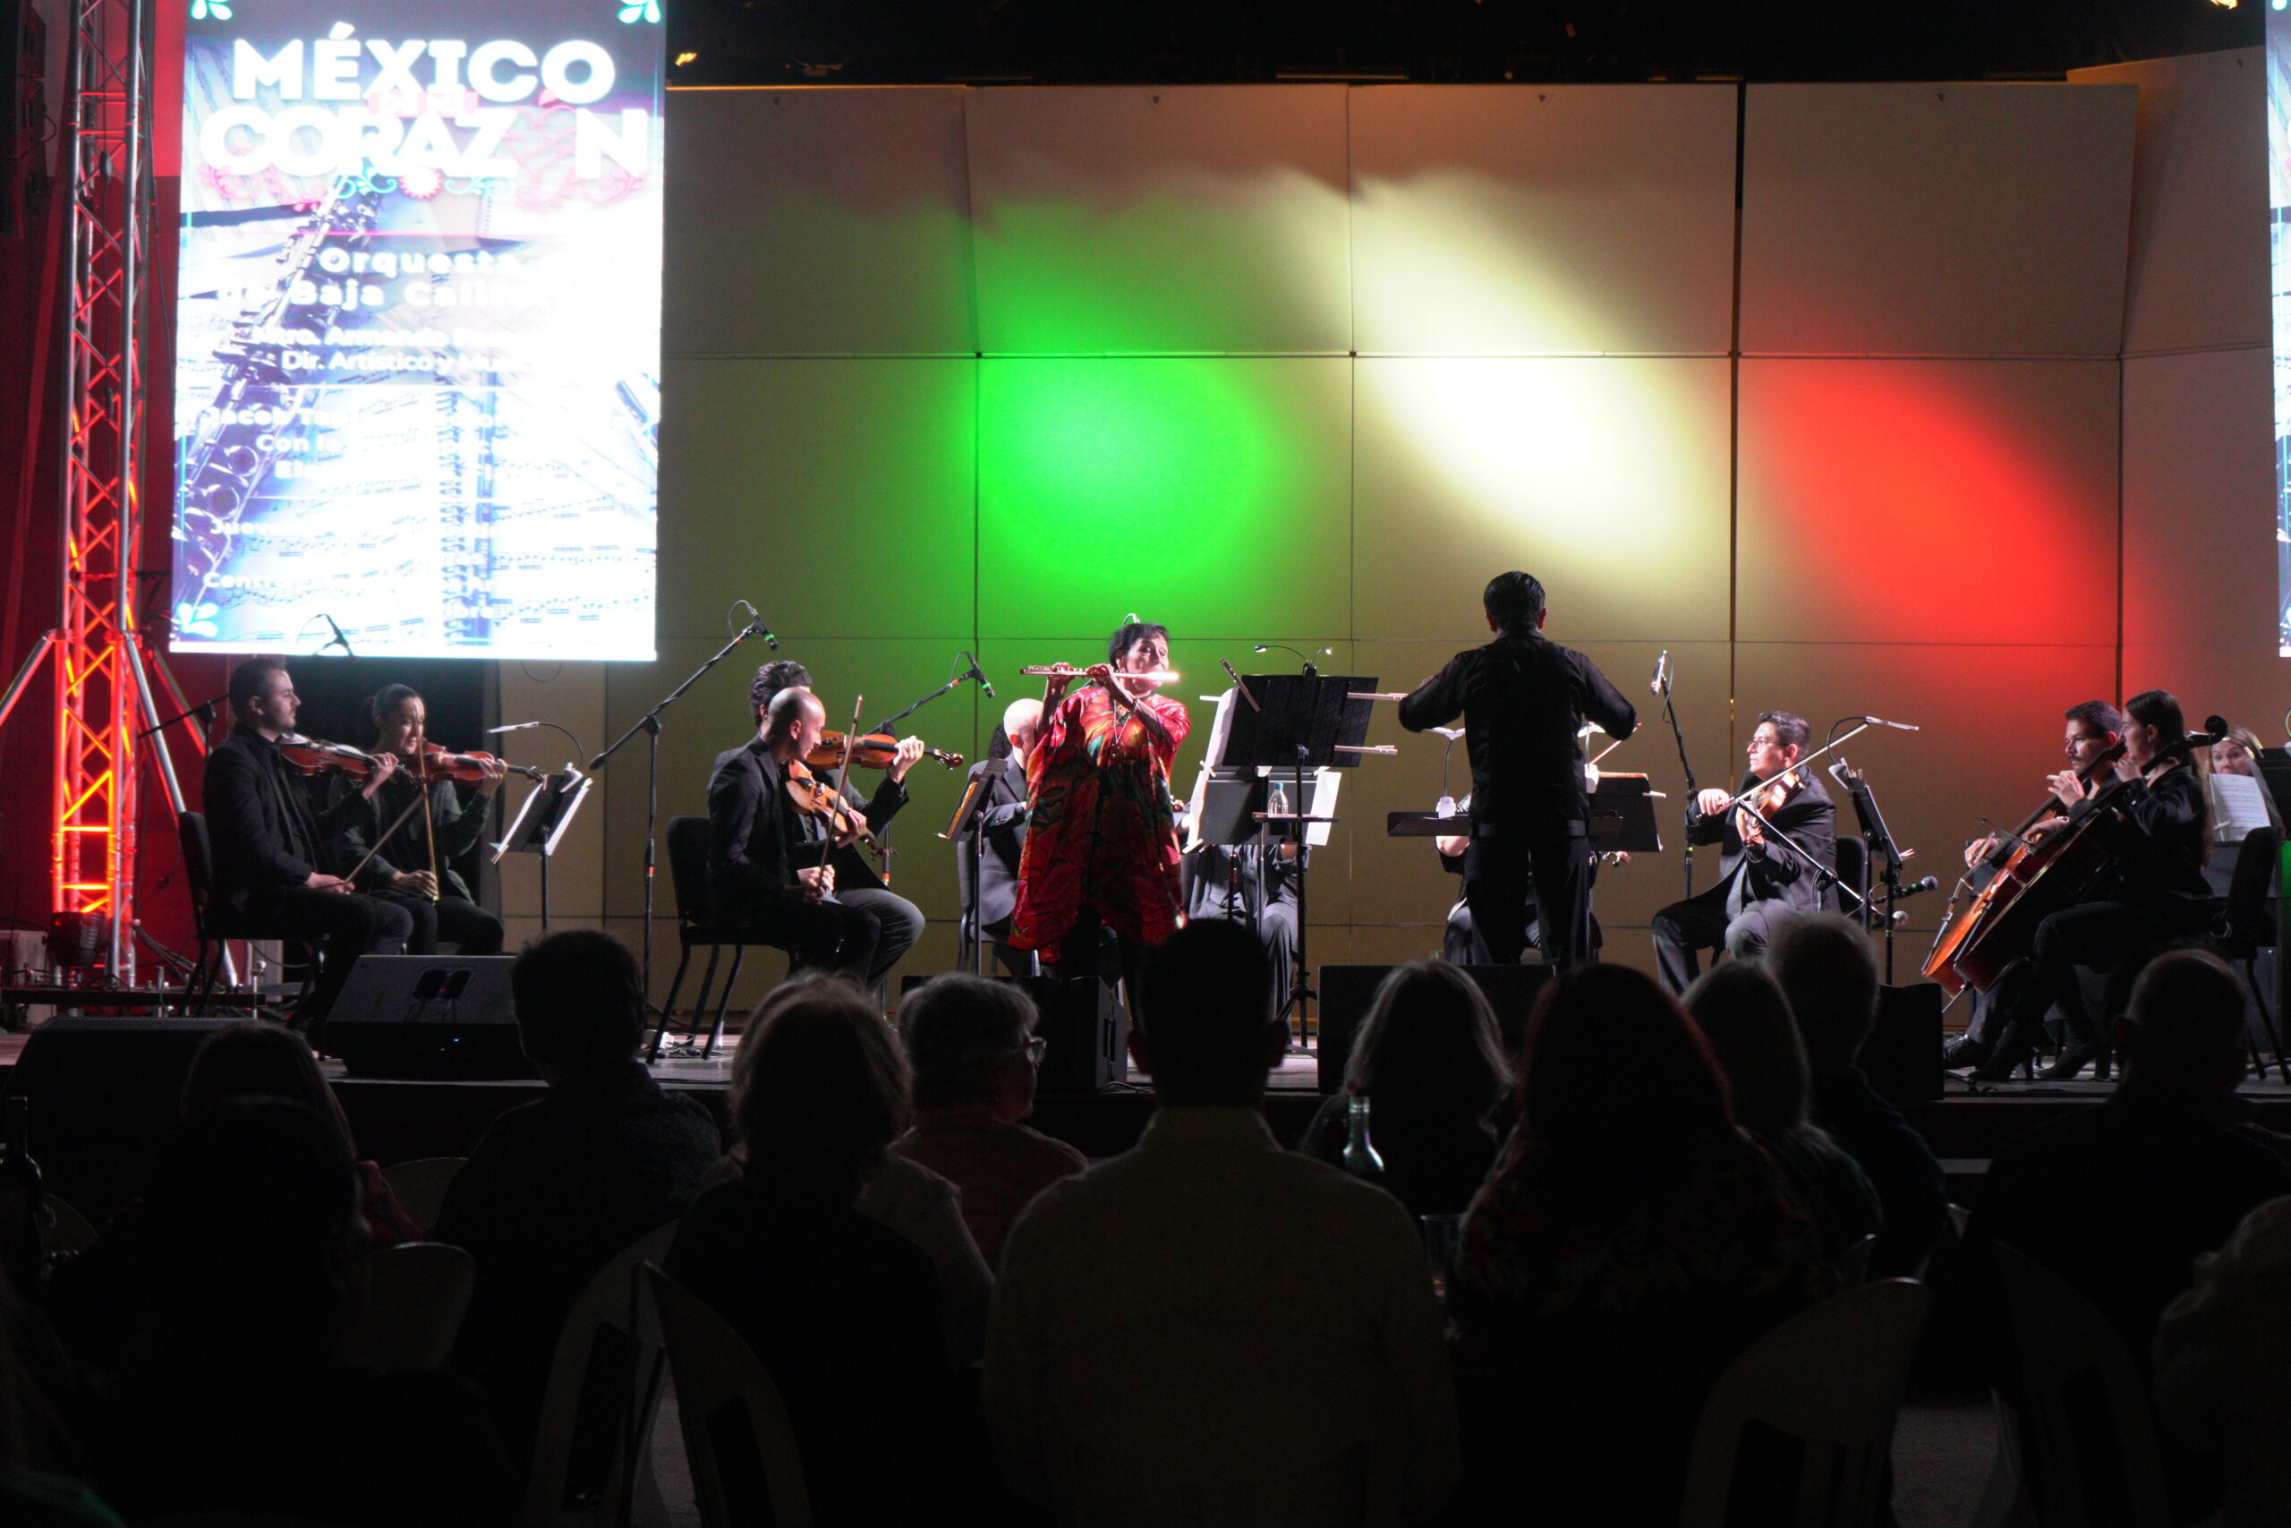
[[[318,1045],[351,1077],[538,1077],[509,1001],[515,955],[360,955]]]

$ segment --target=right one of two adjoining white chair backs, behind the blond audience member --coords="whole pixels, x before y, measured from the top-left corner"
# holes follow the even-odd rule
[[[646,1278],[669,1342],[703,1528],[811,1528],[804,1462],[772,1375],[708,1301],[660,1269]]]

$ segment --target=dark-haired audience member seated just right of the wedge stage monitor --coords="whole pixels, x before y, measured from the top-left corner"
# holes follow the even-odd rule
[[[619,939],[548,935],[518,955],[509,987],[548,1093],[479,1139],[431,1235],[477,1260],[454,1368],[493,1397],[525,1468],[573,1301],[614,1253],[699,1198],[722,1136],[637,1061],[644,980]]]

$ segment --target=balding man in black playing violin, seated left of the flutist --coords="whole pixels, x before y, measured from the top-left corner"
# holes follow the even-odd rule
[[[873,983],[882,919],[836,900],[836,868],[806,841],[786,793],[788,765],[818,747],[825,724],[818,696],[788,687],[761,708],[754,740],[717,754],[708,781],[710,912],[715,923],[788,951],[797,967]]]

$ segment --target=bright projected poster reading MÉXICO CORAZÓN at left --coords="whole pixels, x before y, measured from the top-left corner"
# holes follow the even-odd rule
[[[660,0],[160,2],[172,644],[648,660]]]

